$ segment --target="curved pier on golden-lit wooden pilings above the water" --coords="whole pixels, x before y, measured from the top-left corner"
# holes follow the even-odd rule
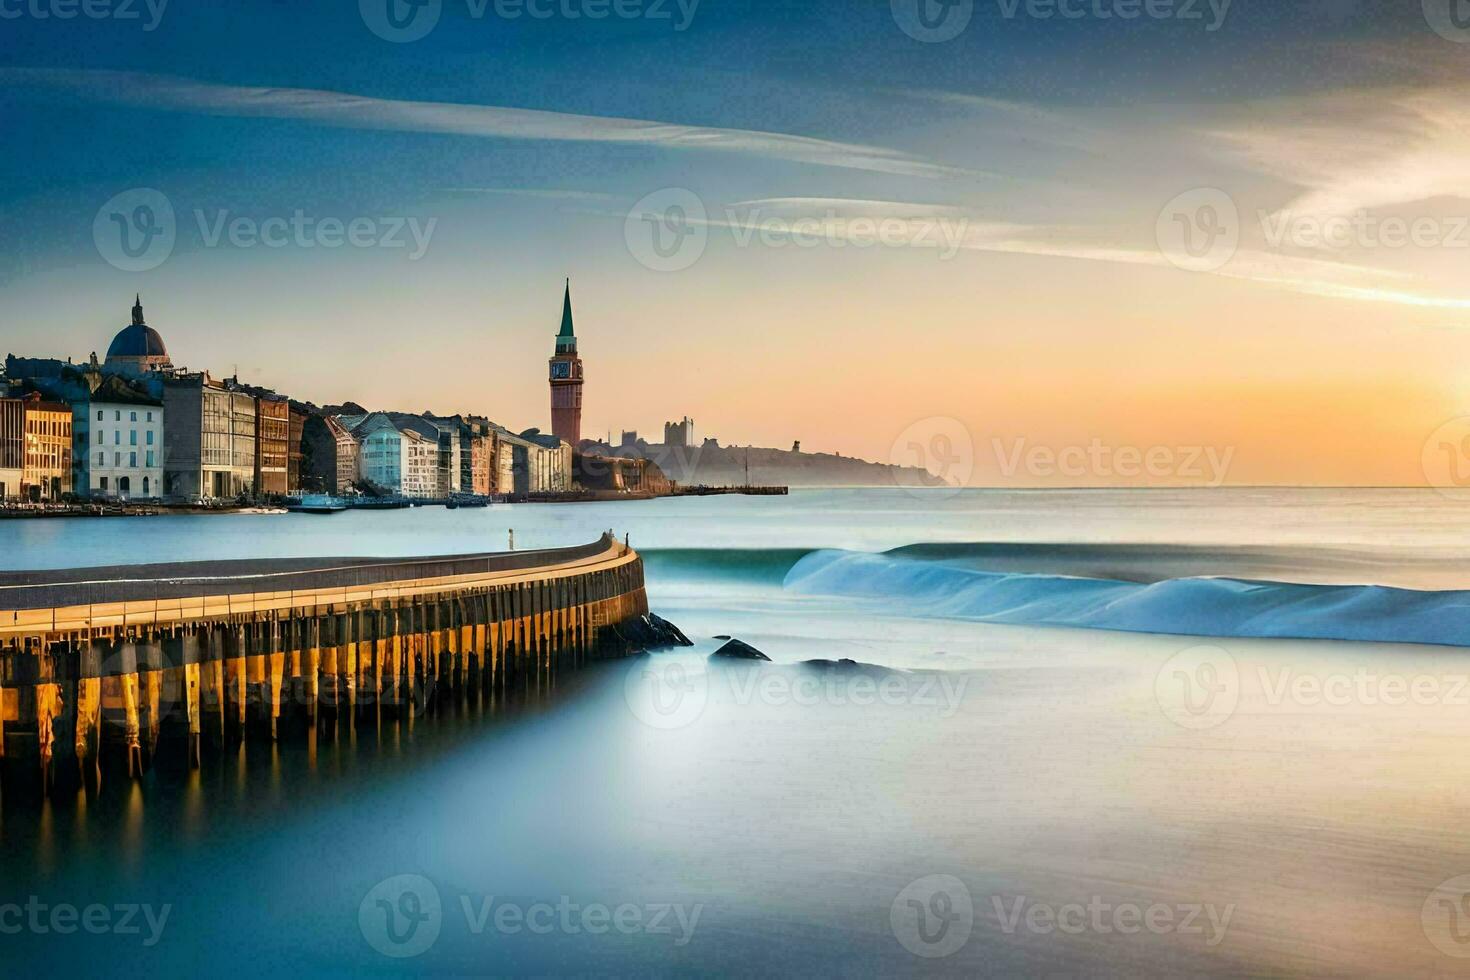
[[[682,639],[648,617],[642,560],[610,533],[507,554],[0,573],[0,796],[544,691],[663,636]]]

